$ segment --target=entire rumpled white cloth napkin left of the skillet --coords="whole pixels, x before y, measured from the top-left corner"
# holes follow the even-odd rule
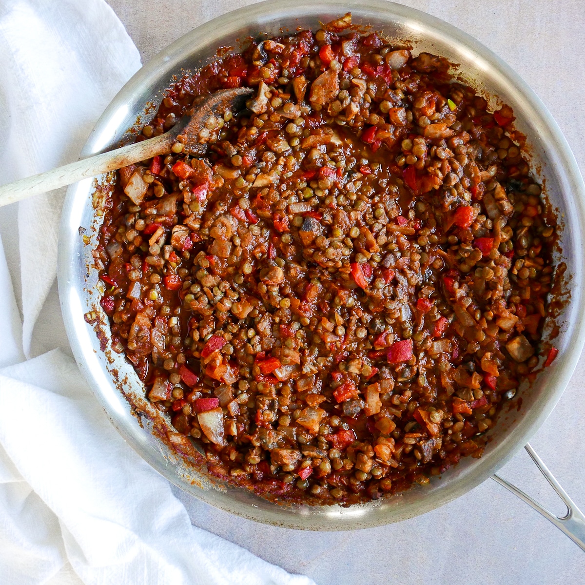
[[[75,160],[140,67],[103,0],[0,2],[0,60],[0,183]],[[66,347],[54,287],[63,192],[0,212],[0,583],[311,584],[192,526],[74,360],[32,357]]]

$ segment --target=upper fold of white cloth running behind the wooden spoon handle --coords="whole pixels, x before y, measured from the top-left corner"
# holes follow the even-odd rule
[[[111,8],[95,0],[4,2],[0,58],[4,64],[2,183],[77,160],[105,106],[140,67],[138,51]],[[22,335],[27,357],[36,319],[57,274],[65,191],[61,188],[19,203]]]

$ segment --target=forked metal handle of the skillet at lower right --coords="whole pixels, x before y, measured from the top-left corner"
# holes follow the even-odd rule
[[[567,495],[566,491],[560,487],[559,482],[553,477],[553,474],[549,472],[548,467],[546,467],[542,462],[542,459],[536,455],[534,449],[532,449],[529,443],[526,443],[525,449],[536,464],[536,467],[541,470],[541,473],[546,477],[548,483],[554,488],[556,493],[559,494],[560,499],[565,503],[567,513],[562,518],[552,514],[552,512],[548,511],[545,507],[533,500],[529,495],[525,494],[524,491],[519,490],[516,486],[512,485],[509,481],[502,479],[496,474],[491,476],[492,479],[510,490],[512,494],[517,495],[521,500],[524,500],[526,504],[532,506],[547,520],[550,520],[550,522],[552,522],[559,530],[569,536],[576,545],[585,550],[585,515],[583,515],[583,512],[577,508],[573,500]]]

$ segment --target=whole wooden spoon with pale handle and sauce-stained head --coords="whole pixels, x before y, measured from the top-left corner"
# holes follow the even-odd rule
[[[142,142],[129,144],[122,148],[96,154],[76,163],[54,168],[8,183],[0,187],[0,207],[31,195],[52,191],[64,185],[77,183],[84,178],[95,177],[100,173],[115,171],[118,168],[139,163],[141,160],[152,159],[157,154],[168,154],[173,144],[183,144],[185,154],[204,154],[207,146],[199,142],[199,130],[205,128],[205,122],[211,116],[223,115],[228,110],[238,110],[243,102],[252,94],[245,87],[217,91],[214,94],[195,98],[191,108],[168,132]]]

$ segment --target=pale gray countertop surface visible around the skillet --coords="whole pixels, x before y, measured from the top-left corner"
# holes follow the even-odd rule
[[[246,0],[108,0],[143,61],[195,26]],[[402,2],[448,21],[504,59],[545,102],[585,169],[583,85],[585,12],[579,0],[415,0]],[[559,404],[531,441],[585,510],[585,357]],[[500,471],[550,510],[563,505],[519,453]],[[355,532],[301,532],[264,526],[215,510],[176,490],[193,524],[319,585],[386,583],[563,583],[585,581],[585,553],[552,524],[488,480],[439,510]]]

